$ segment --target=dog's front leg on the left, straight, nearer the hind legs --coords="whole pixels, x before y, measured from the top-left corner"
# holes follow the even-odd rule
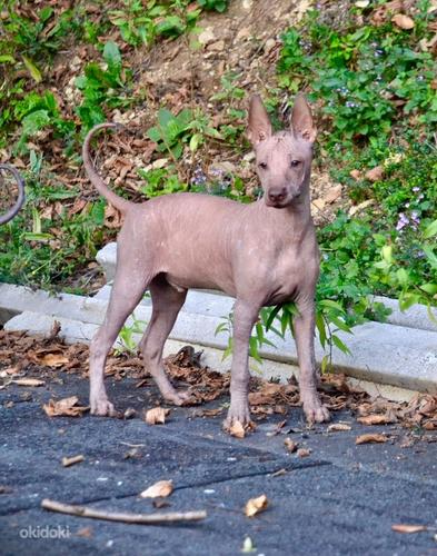
[[[258,318],[258,304],[237,299],[234,307],[232,365],[230,378],[230,407],[225,420],[229,428],[237,420],[241,425],[250,423],[248,401],[249,388],[249,339]]]

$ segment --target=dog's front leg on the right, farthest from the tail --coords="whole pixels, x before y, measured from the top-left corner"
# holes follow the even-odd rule
[[[312,300],[298,302],[299,316],[294,320],[299,359],[299,389],[304,413],[309,423],[329,420],[329,411],[317,393],[318,375],[314,351],[315,305]]]

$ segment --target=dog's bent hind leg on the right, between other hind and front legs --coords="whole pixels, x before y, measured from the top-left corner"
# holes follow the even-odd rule
[[[150,295],[152,315],[140,344],[145,367],[155,378],[162,397],[180,406],[189,395],[172,387],[162,365],[162,349],[185,302],[187,290],[177,290],[160,275],[151,281]]]

